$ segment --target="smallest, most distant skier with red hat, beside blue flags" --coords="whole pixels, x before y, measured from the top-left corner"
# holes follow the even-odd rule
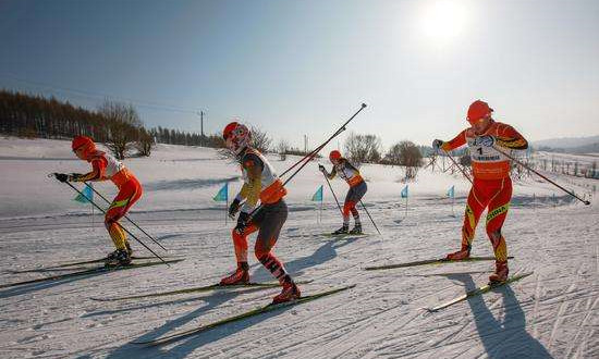
[[[337,230],[332,234],[362,234],[362,222],[359,221],[359,213],[356,209],[357,202],[364,197],[368,187],[366,182],[359,175],[359,171],[347,159],[341,157],[341,152],[338,150],[332,150],[329,153],[329,160],[333,164],[331,173],[327,172],[327,169],[322,164],[318,165],[320,172],[322,172],[327,178],[332,180],[339,173],[339,176],[350,185],[350,190],[345,196],[345,201],[343,202],[343,225],[341,228]],[[352,231],[350,228],[350,212],[354,216],[355,225]]]

